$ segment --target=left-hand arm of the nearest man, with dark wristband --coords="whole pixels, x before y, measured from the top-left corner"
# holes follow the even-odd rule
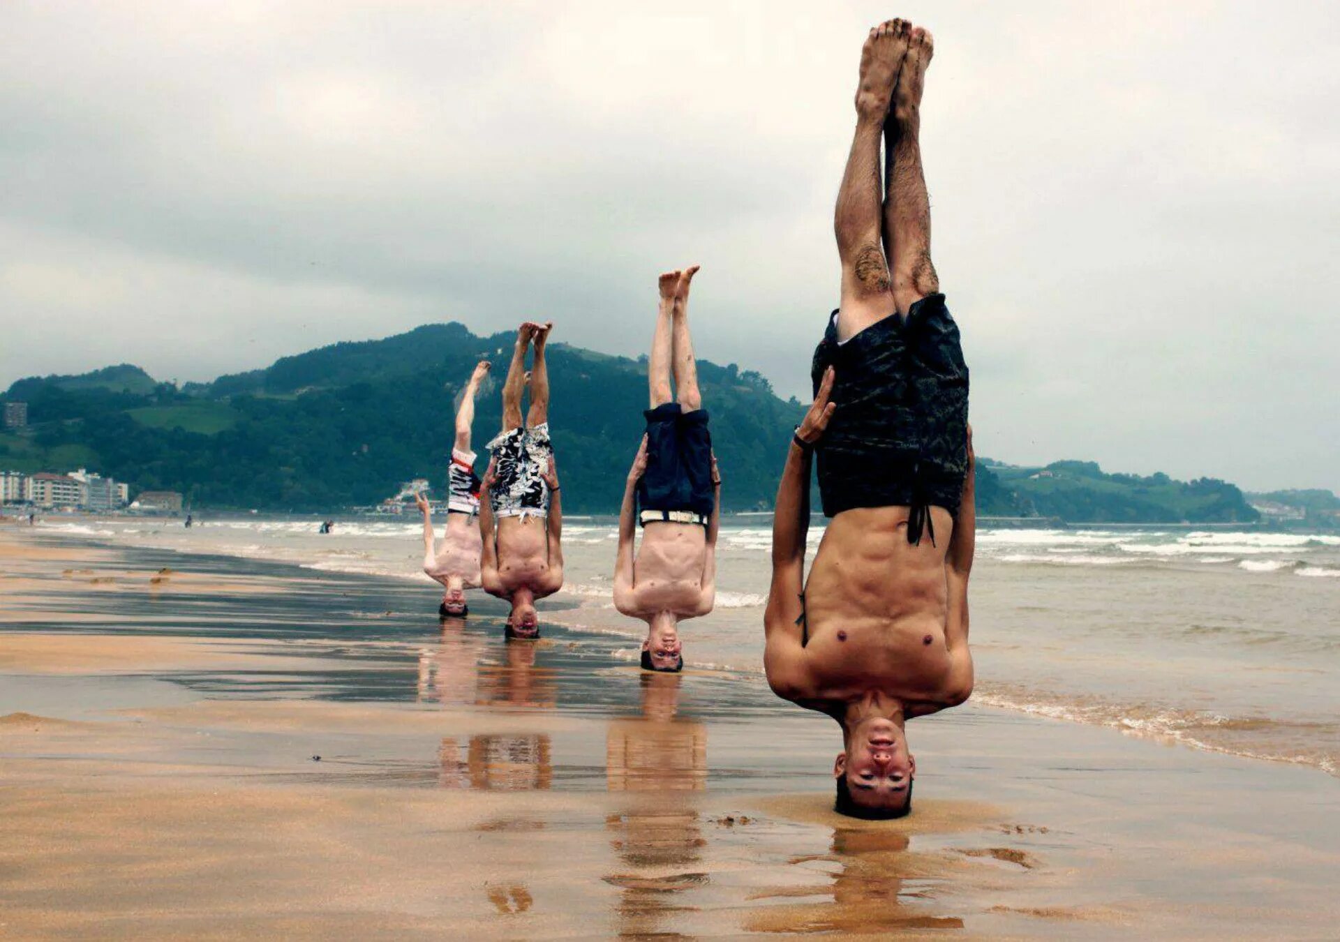
[[[796,430],[796,438],[813,445],[828,427],[833,403],[833,371],[824,374],[819,395]],[[809,533],[809,464],[812,449],[801,448],[795,438],[787,449],[787,466],[777,485],[777,504],[772,516],[772,587],[764,612],[764,669],[768,683],[783,697],[795,693],[800,669],[803,594],[805,591],[805,536]]]

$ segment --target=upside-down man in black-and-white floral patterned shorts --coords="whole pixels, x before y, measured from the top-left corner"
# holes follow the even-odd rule
[[[535,600],[563,587],[563,511],[549,442],[549,371],[544,344],[553,324],[521,324],[503,386],[503,431],[484,474],[480,529],[484,537],[484,591],[507,599],[508,638],[539,638]],[[535,344],[529,374],[531,409],[521,421],[527,385],[525,351]]]

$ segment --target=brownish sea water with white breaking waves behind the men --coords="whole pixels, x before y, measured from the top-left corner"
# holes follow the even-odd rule
[[[766,520],[725,524],[716,611],[682,628],[690,666],[762,673]],[[441,525],[441,521],[438,521]],[[111,543],[293,563],[434,584],[419,571],[422,527],[236,517],[60,520],[39,529]],[[821,527],[811,529],[811,549]],[[567,631],[626,638],[614,610],[616,529],[564,525],[567,584],[541,612]],[[1301,762],[1340,760],[1340,536],[1185,529],[981,529],[970,587],[973,701],[1100,724],[1187,746]]]

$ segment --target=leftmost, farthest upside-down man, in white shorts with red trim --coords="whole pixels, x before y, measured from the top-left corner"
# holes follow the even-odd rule
[[[474,397],[490,366],[488,360],[476,363],[456,410],[456,441],[446,473],[446,529],[437,549],[433,548],[433,511],[422,493],[414,494],[423,513],[423,572],[445,588],[437,607],[441,618],[468,615],[465,590],[480,587],[480,478],[470,450],[470,425],[474,422]]]

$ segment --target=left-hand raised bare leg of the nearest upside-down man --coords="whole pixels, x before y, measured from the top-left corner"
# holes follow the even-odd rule
[[[842,260],[838,336],[847,339],[894,311],[888,263],[880,251],[879,138],[904,52],[898,20],[870,31],[860,55],[856,133],[847,155],[833,233]]]

